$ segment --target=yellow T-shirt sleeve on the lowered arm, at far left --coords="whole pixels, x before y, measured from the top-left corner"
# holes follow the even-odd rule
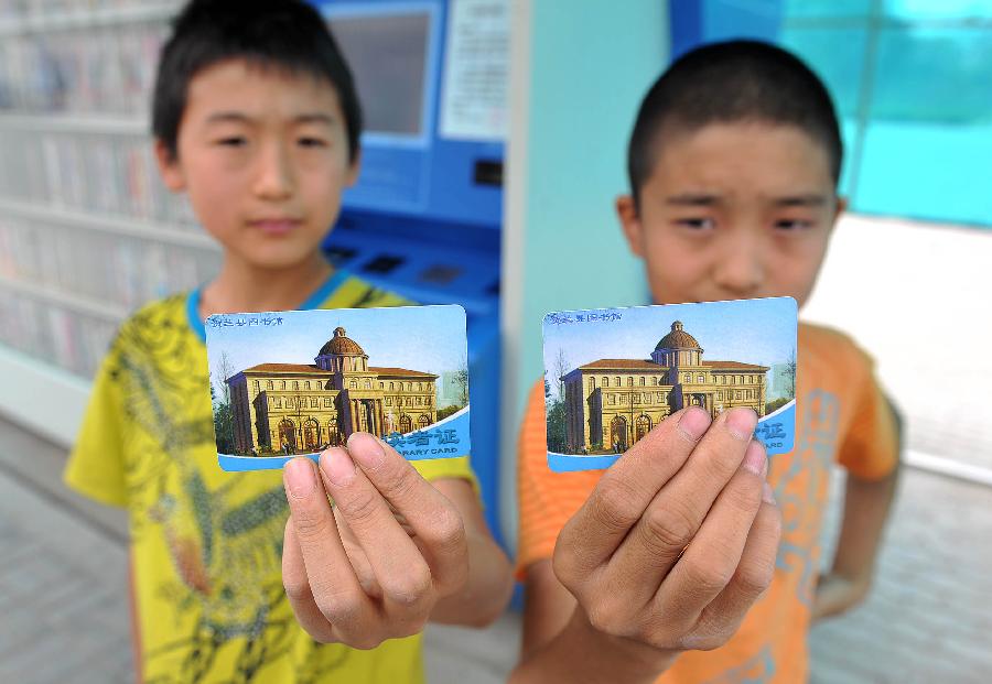
[[[112,367],[112,351],[104,359],[83,424],[68,458],[63,479],[79,493],[100,503],[125,507],[123,413]]]

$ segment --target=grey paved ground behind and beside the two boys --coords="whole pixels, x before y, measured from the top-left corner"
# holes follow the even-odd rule
[[[122,520],[62,488],[63,459],[0,421],[0,682],[129,682]],[[812,681],[992,680],[990,532],[992,489],[908,470],[871,599],[812,632]],[[429,678],[502,682],[518,639],[513,614],[431,627]]]

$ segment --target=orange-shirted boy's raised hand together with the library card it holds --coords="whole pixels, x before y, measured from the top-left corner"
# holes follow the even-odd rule
[[[725,643],[770,583],[796,333],[788,297],[546,316],[548,465],[608,468],[552,558],[578,601],[556,643],[600,654],[591,678],[654,681]]]

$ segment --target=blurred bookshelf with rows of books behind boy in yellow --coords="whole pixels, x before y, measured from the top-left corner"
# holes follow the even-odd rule
[[[148,107],[182,0],[0,0],[0,413],[71,444],[120,322],[215,273]]]

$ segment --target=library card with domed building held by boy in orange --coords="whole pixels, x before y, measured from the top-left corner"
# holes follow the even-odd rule
[[[548,466],[608,468],[687,406],[754,409],[768,455],[790,452],[797,325],[791,297],[548,314]]]

